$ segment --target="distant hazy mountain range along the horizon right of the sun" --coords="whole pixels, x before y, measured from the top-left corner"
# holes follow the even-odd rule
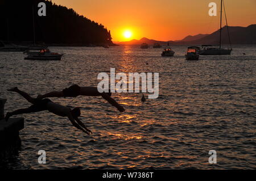
[[[256,24],[251,24],[248,27],[231,27],[227,26],[222,28],[222,44],[229,44],[228,29],[230,33],[230,40],[232,44],[256,44]],[[187,36],[183,40],[169,41],[170,44],[175,45],[201,45],[201,44],[219,44],[220,30],[217,30],[210,35],[199,34],[195,36]],[[118,44],[167,44],[167,41],[150,40],[143,37],[141,40],[123,41]]]

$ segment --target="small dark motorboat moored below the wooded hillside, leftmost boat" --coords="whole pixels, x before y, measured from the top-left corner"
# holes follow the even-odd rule
[[[49,49],[41,49],[40,52],[32,52],[30,50],[27,50],[27,57],[25,57],[25,60],[61,60],[61,57],[64,53],[55,53],[51,52]]]

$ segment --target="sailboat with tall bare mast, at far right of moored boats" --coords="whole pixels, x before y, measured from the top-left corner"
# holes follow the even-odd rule
[[[230,54],[232,51],[232,48],[222,48],[221,47],[221,35],[222,35],[222,2],[224,0],[221,0],[221,15],[220,15],[220,44],[219,45],[202,45],[202,49],[200,50],[201,55],[221,55],[221,54]],[[225,12],[225,18],[226,18],[226,10],[225,10],[225,5],[224,5],[224,12]],[[229,36],[229,27],[228,27],[228,22],[226,19],[226,27],[228,30],[228,36]],[[230,42],[230,36],[229,36],[229,43],[231,47],[231,42]]]

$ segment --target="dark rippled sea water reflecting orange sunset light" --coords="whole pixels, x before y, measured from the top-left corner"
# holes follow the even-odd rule
[[[47,111],[20,115],[22,147],[7,167],[14,169],[255,169],[256,47],[236,46],[231,56],[185,61],[186,47],[174,57],[162,49],[139,47],[52,47],[63,61],[23,60],[22,53],[0,52],[0,97],[6,111],[30,106],[6,89],[18,86],[32,96],[77,83],[97,86],[97,75],[158,72],[159,98],[113,94],[125,107],[118,112],[100,97],[52,98],[81,107],[86,136],[65,117]],[[245,54],[243,54],[245,53]],[[38,164],[46,150],[47,164]],[[208,163],[209,150],[217,164]]]

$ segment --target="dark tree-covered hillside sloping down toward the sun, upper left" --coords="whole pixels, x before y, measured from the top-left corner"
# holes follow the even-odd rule
[[[46,3],[46,16],[38,16],[39,2]],[[33,6],[37,43],[112,44],[110,31],[102,24],[77,14],[73,9],[44,0],[1,0],[0,40],[15,43],[33,41]]]

